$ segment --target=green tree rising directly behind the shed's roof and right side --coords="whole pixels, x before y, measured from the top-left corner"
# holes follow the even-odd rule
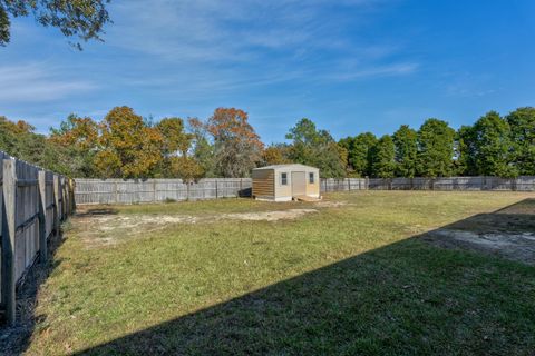
[[[317,130],[315,123],[303,118],[286,135],[292,140],[290,159],[314,166],[323,177],[346,176],[346,165],[338,144],[327,130]]]

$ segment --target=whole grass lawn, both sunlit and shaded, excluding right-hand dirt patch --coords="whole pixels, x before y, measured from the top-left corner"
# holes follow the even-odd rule
[[[535,267],[420,237],[527,198],[361,191],[328,195],[322,205],[106,207],[68,224],[21,347],[30,355],[533,355]],[[307,210],[254,219],[289,209]]]

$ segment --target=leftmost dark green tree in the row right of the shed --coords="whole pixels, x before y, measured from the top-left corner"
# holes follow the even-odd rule
[[[371,161],[376,144],[377,138],[371,132],[340,140],[339,145],[348,150],[350,170],[353,170],[358,177],[371,176]]]

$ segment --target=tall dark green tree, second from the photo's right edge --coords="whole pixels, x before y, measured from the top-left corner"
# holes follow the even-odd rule
[[[471,155],[476,171],[483,176],[513,177],[512,141],[507,121],[498,112],[489,111],[471,128]]]

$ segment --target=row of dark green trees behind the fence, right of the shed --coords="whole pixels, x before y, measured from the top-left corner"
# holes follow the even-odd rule
[[[347,172],[359,177],[446,177],[535,175],[535,108],[502,117],[489,111],[457,131],[427,119],[418,130],[402,125],[393,135],[371,132],[339,142]]]

